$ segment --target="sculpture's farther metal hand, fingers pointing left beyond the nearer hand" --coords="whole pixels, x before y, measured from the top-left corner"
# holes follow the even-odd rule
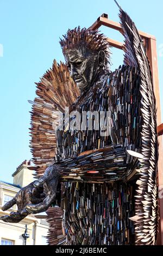
[[[42,188],[39,188],[39,190],[35,189],[34,182],[30,183],[26,187],[23,187],[12,200],[10,200],[2,207],[3,211],[7,211],[16,204],[18,208],[17,212],[10,212],[9,216],[2,216],[0,217],[0,220],[4,222],[20,222],[21,220],[23,220],[23,218],[30,214],[28,211],[23,211],[23,209],[26,208],[27,204],[38,204],[43,201],[45,197],[42,192]]]

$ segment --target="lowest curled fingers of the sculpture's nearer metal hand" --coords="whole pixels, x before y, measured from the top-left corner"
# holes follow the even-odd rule
[[[26,206],[27,211],[30,212],[30,214],[39,214],[39,212],[46,211],[49,208],[49,206],[51,205],[51,203],[54,201],[55,195],[56,195],[55,193],[53,195],[49,194],[43,200],[42,203],[39,203],[39,204],[28,204]]]

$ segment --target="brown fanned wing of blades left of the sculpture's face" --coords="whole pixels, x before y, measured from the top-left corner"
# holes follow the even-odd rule
[[[76,83],[70,77],[67,66],[58,64],[56,60],[53,66],[36,83],[36,95],[31,115],[30,148],[33,154],[33,162],[38,178],[47,166],[54,163],[57,139],[55,128],[58,121],[69,107],[76,101],[79,91]]]

